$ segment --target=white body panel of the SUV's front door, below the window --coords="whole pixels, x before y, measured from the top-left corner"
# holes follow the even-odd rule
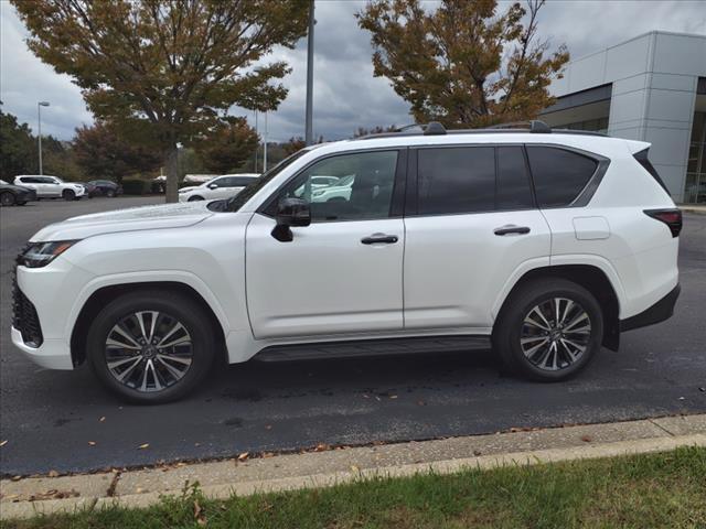
[[[404,224],[400,218],[313,223],[271,236],[254,215],[246,235],[247,305],[256,338],[403,328]],[[392,244],[363,244],[374,234]]]

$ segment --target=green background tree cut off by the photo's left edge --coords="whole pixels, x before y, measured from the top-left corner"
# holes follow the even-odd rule
[[[0,179],[12,182],[18,174],[32,174],[38,168],[35,139],[26,123],[0,110]]]

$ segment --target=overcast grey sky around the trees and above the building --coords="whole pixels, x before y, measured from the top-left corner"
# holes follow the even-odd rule
[[[353,17],[364,4],[317,0],[313,127],[315,136],[329,140],[350,137],[357,127],[411,121],[408,105],[387,80],[373,77],[370,34],[357,28]],[[507,4],[501,2],[500,9]],[[69,140],[76,127],[93,121],[81,91],[68,76],[54,73],[32,55],[24,44],[26,31],[6,0],[0,0],[0,17],[3,111],[36,130],[36,101],[49,100],[51,107],[42,110],[42,132]],[[566,43],[573,58],[652,30],[706,34],[706,1],[549,0],[539,20],[542,36],[555,46]],[[272,58],[285,60],[293,68],[285,79],[289,96],[268,119],[268,138],[286,141],[304,132],[306,39],[296,50],[278,51]],[[254,123],[252,114],[248,119]],[[259,125],[263,133],[263,120]]]

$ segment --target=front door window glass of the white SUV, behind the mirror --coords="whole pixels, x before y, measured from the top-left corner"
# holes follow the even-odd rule
[[[314,222],[388,217],[397,154],[397,151],[356,152],[315,162],[279,192],[268,213],[274,214],[282,198],[296,197],[311,205]],[[321,185],[320,176],[335,177],[336,185]],[[342,182],[346,185],[340,185]]]

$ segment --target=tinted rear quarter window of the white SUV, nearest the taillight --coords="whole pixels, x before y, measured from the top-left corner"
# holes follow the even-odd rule
[[[527,145],[527,156],[539,207],[568,206],[598,166],[588,156],[553,147]]]

